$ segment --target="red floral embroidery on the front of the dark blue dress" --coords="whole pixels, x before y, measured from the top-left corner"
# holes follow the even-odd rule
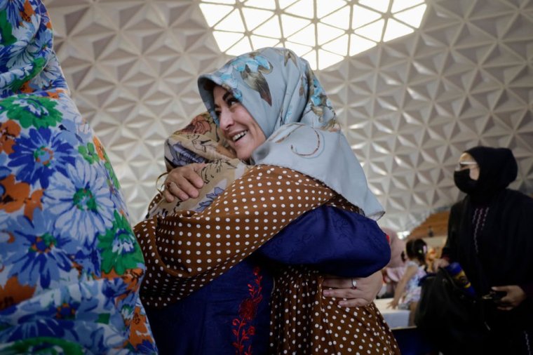
[[[248,344],[248,348],[245,349],[245,343],[251,339],[252,335],[255,335],[255,326],[251,326],[249,323],[255,319],[257,307],[263,300],[263,295],[261,294],[261,280],[263,279],[263,276],[259,275],[259,271],[259,267],[255,267],[253,271],[255,275],[255,285],[248,283],[250,297],[241,302],[241,305],[238,307],[238,318],[233,321],[233,333],[236,337],[233,346],[236,348],[235,354],[238,355],[252,355],[252,345]]]

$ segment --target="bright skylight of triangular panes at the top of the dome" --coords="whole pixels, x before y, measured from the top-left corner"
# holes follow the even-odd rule
[[[414,32],[424,0],[201,0],[220,51],[240,55],[283,46],[325,69]]]

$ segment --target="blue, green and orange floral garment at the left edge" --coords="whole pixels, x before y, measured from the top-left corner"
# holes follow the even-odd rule
[[[46,9],[0,0],[0,354],[156,353],[144,269]]]

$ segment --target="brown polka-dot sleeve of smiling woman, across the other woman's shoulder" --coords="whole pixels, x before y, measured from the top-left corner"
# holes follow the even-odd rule
[[[135,234],[147,263],[143,300],[164,307],[186,297],[335,196],[294,170],[255,166],[201,212],[140,222]]]

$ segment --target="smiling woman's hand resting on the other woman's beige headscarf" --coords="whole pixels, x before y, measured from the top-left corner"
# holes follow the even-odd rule
[[[198,189],[203,186],[203,180],[198,175],[198,171],[205,165],[205,163],[192,163],[170,170],[165,180],[165,189],[163,189],[163,197],[166,201],[172,202],[175,197],[182,201],[186,201],[189,197],[198,197]]]

